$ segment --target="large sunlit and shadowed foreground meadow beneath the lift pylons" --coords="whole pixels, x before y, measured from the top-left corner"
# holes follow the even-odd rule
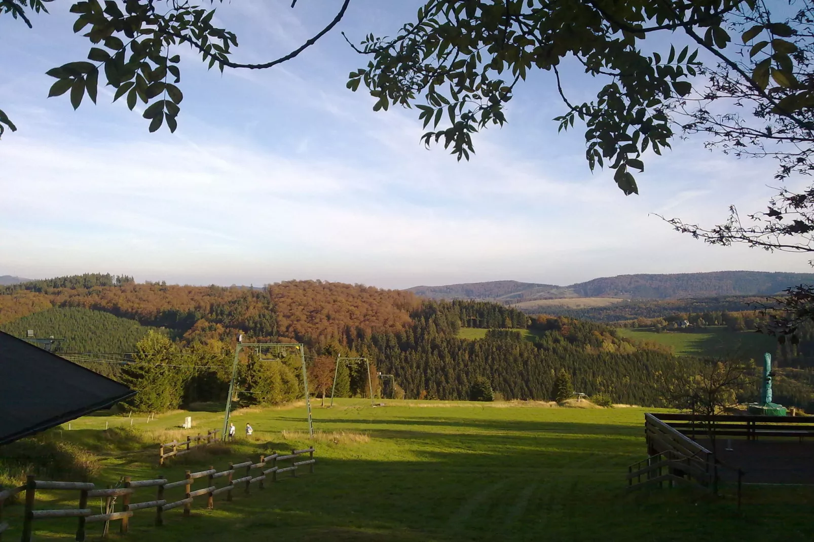
[[[502,407],[502,408],[501,408]],[[722,496],[684,489],[626,492],[628,464],[645,456],[642,409],[535,408],[519,404],[387,401],[371,407],[339,400],[333,409],[314,405],[315,474],[285,478],[251,496],[216,497],[214,510],[196,500],[192,517],[165,513],[152,527],[152,510],[137,512],[126,540],[812,540],[814,499],[806,487],[746,487],[742,512],[733,489]],[[221,449],[157,466],[157,448],[140,449],[134,435],[158,438],[178,430],[187,413],[171,413],[137,431],[104,431],[105,422],[129,426],[122,417],[94,416],[72,422],[72,431],[51,431],[93,448],[103,460],[98,485],[166,476],[184,470],[225,468],[229,461],[262,452],[305,447],[305,409],[247,409],[235,414],[256,433]],[[195,431],[220,425],[214,412],[191,413]],[[67,427],[66,427],[67,429]],[[168,435],[164,435],[168,436]],[[149,438],[148,438],[149,440]],[[212,448],[215,451],[216,448]],[[193,457],[195,456],[195,457]],[[218,484],[219,486],[221,484]],[[204,487],[203,480],[195,487]],[[38,506],[67,505],[42,492]],[[139,490],[134,501],[153,500]],[[182,489],[168,499],[182,498]],[[90,505],[98,509],[98,502]],[[19,540],[20,505],[7,507]],[[41,520],[35,540],[72,540],[76,520]],[[98,540],[100,524],[90,524]],[[119,540],[116,528],[113,540]],[[121,538],[125,540],[125,538]]]

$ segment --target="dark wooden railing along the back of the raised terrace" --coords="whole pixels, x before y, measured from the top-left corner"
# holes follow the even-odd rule
[[[672,427],[691,439],[707,436],[714,431],[716,437],[743,437],[757,440],[765,437],[792,437],[803,442],[814,437],[814,416],[698,416],[693,414],[658,413],[647,414]]]

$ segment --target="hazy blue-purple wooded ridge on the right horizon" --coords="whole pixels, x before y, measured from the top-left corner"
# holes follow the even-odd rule
[[[536,299],[618,298],[681,299],[715,295],[772,295],[789,286],[814,283],[814,273],[715,271],[712,273],[636,274],[594,278],[571,286],[494,281],[414,286],[416,295],[430,299],[481,299],[519,303]]]

